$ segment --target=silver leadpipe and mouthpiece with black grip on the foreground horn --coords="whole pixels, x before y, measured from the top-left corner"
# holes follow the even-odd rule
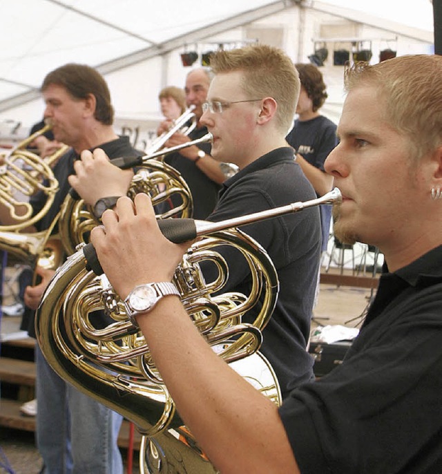
[[[329,193],[324,194],[320,198],[311,199],[309,201],[298,201],[286,206],[275,207],[273,209],[266,209],[265,211],[254,212],[247,214],[247,216],[240,216],[231,219],[221,220],[220,222],[209,222],[206,220],[194,219],[163,219],[158,220],[158,227],[162,234],[171,240],[173,243],[184,243],[195,238],[213,234],[224,229],[231,229],[232,227],[240,227],[241,225],[258,222],[258,220],[270,219],[273,217],[284,216],[294,212],[302,211],[309,207],[318,206],[320,204],[333,204],[340,202],[342,196],[338,188],[334,188]],[[97,253],[92,244],[83,247],[84,256],[88,262],[87,269],[93,270],[97,275],[103,273],[103,269],[99,264]]]

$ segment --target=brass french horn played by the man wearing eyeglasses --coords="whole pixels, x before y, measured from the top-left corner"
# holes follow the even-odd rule
[[[189,218],[192,215],[193,203],[188,184],[175,168],[152,158],[211,140],[212,135],[207,133],[204,137],[192,142],[162,149],[151,155],[138,158],[113,158],[111,162],[122,169],[133,167],[137,169],[128,196],[135,198],[137,193],[148,194],[157,211],[157,218]],[[175,207],[171,207],[172,196],[178,196],[178,204]],[[61,205],[59,218],[59,234],[66,253],[73,254],[75,247],[86,242],[87,234],[98,224],[92,209],[84,205],[84,201],[77,193],[69,193]]]

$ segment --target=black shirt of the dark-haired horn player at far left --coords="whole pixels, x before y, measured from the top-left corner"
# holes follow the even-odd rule
[[[142,156],[140,151],[137,151],[133,148],[131,142],[129,142],[129,138],[126,136],[119,137],[100,146],[95,146],[95,148],[103,149],[109,158],[132,158],[134,156]],[[59,182],[59,191],[57,191],[55,200],[52,202],[49,211],[35,224],[37,231],[48,229],[52,224],[52,221],[56,218],[61,204],[70,190],[68,176],[75,173],[74,161],[78,158],[78,154],[73,149],[70,149],[60,158],[57,164],[55,164],[53,171],[55,178],[57,178]],[[36,193],[35,196],[30,198],[30,204],[32,205],[34,214],[37,214],[39,209],[44,207],[45,202],[46,196],[43,192]],[[52,230],[52,234],[55,233],[57,233],[57,225]],[[102,321],[100,322],[97,320],[97,327],[98,325],[106,325],[105,321],[108,323],[108,319],[104,318],[104,314],[102,314],[102,317],[100,316],[100,318]],[[34,319],[35,312],[26,307],[25,313],[23,314],[23,321],[21,322],[21,329],[28,330],[29,335],[32,337],[35,337]]]

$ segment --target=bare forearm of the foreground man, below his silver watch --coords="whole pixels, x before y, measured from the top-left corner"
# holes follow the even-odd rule
[[[213,352],[178,298],[137,322],[177,410],[221,472],[299,472],[276,405]]]

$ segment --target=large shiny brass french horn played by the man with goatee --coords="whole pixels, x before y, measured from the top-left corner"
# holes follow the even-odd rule
[[[276,304],[278,277],[267,252],[231,227],[339,200],[340,192],[334,189],[322,198],[222,222],[158,221],[163,234],[175,242],[205,236],[191,245],[175,271],[173,281],[182,303],[213,350],[227,363],[235,364],[235,370],[276,404],[281,402],[278,381],[258,349],[261,330]],[[249,296],[220,294],[229,278],[227,261],[217,252],[222,245],[234,247],[249,264]],[[133,421],[144,435],[142,466],[153,472],[214,473],[176,413],[144,337],[127,320],[106,276],[99,275],[92,245],[80,247],[59,267],[37,311],[37,339],[48,363],[79,390]],[[202,275],[200,265],[206,260],[218,268],[215,281],[206,282]],[[258,299],[262,309],[256,320],[243,323],[243,314]],[[115,321],[102,330],[94,328],[89,319],[90,312],[100,308]]]

